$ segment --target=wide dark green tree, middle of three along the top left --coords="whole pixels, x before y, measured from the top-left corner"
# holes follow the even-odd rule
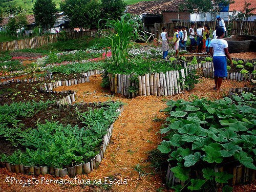
[[[96,28],[100,18],[100,3],[96,0],[65,0],[60,9],[70,18],[71,26],[80,30]]]

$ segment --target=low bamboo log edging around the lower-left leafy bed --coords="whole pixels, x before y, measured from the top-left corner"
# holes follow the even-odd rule
[[[114,102],[114,101],[111,101]],[[102,105],[102,104],[108,104],[108,101],[104,102],[89,102],[89,103],[82,103],[83,105],[87,106],[96,106],[96,105]],[[121,112],[123,111],[123,105],[121,105],[116,112],[120,112],[119,116],[121,115]],[[28,174],[28,175],[45,175],[50,174],[55,177],[65,177],[66,175],[69,175],[70,177],[75,177],[77,174],[88,174],[93,169],[97,169],[100,162],[103,160],[104,155],[106,153],[106,147],[110,143],[110,139],[112,136],[112,132],[114,129],[114,123],[112,123],[107,133],[102,137],[102,144],[100,146],[100,152],[95,157],[93,157],[91,160],[89,160],[87,163],[81,163],[79,165],[75,165],[74,167],[67,167],[63,169],[54,168],[50,166],[32,166],[32,167],[26,167],[24,165],[13,165],[11,163],[0,163],[2,167],[6,167],[7,170],[13,173],[21,173],[21,174]]]

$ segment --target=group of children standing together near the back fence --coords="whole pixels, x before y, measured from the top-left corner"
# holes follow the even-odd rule
[[[175,50],[175,56],[177,57],[179,50],[183,49],[186,50],[186,42],[189,36],[190,39],[190,51],[192,51],[192,47],[196,46],[196,52],[206,52],[209,55],[209,47],[210,47],[210,28],[207,24],[202,25],[198,24],[198,29],[195,31],[195,23],[190,24],[190,28],[187,32],[185,26],[175,26],[174,27],[174,36],[173,36],[173,45]],[[163,44],[162,44],[162,51],[163,51],[163,58],[167,57],[168,49],[168,38],[166,33],[166,28],[162,28],[163,32],[161,34]],[[214,38],[216,36],[216,29],[212,34]]]

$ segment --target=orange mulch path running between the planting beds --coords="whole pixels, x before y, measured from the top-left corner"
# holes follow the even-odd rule
[[[192,100],[196,97],[207,97],[209,99],[220,99],[228,94],[230,88],[233,87],[249,87],[250,82],[238,82],[232,80],[224,80],[223,92],[217,93],[211,90],[214,87],[214,80],[210,78],[200,78],[195,89],[179,95],[168,97],[156,96],[140,96],[132,99],[124,98],[120,95],[112,96],[108,90],[100,87],[100,75],[90,77],[91,82],[85,82],[70,87],[59,87],[55,91],[75,90],[79,101],[94,102],[107,100],[120,100],[124,103],[124,111],[114,123],[113,135],[111,142],[106,150],[104,159],[98,169],[93,170],[88,175],[82,175],[84,179],[98,180],[104,177],[112,177],[116,179],[127,179],[127,184],[113,184],[111,191],[156,191],[160,187],[164,187],[162,178],[147,162],[148,152],[157,148],[161,142],[159,130],[161,124],[164,123],[166,115],[160,113],[159,110],[166,107],[166,99],[184,99]],[[162,119],[162,121],[154,121],[154,119]],[[134,168],[140,165],[146,173],[139,178],[139,172]],[[0,169],[0,190],[3,191],[97,191],[89,186],[83,185],[60,185],[60,184],[34,184],[22,187],[20,184],[10,184],[5,182],[7,176],[15,178],[28,179],[32,176],[22,174],[14,174],[6,169]],[[52,176],[45,176],[54,179]],[[81,177],[81,176],[78,176]],[[40,179],[40,177],[39,177]],[[98,191],[103,191],[102,188]]]

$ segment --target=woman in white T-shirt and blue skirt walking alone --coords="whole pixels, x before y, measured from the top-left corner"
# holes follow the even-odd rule
[[[221,84],[223,78],[227,76],[227,58],[230,60],[231,65],[233,65],[231,56],[228,52],[227,41],[223,39],[225,31],[222,27],[217,28],[216,39],[210,41],[209,52],[213,57],[214,62],[214,81],[215,87],[213,88],[217,92],[223,91],[221,89]]]

